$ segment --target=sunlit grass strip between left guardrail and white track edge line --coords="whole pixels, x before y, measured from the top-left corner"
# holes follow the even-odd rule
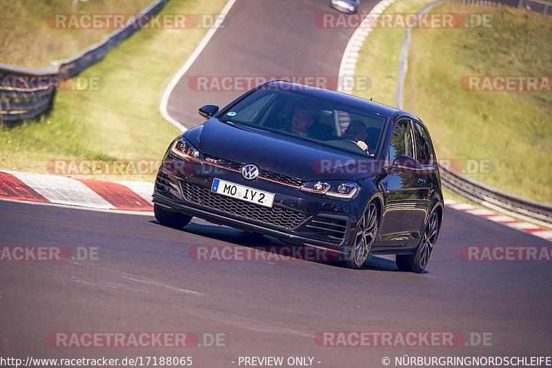
[[[163,12],[215,14],[225,3],[171,1]],[[159,113],[161,94],[206,32],[137,32],[79,75],[101,77],[102,90],[58,92],[50,115],[0,126],[0,168],[47,173],[46,164],[52,159],[160,159],[180,133]],[[92,177],[153,180],[155,175]]]

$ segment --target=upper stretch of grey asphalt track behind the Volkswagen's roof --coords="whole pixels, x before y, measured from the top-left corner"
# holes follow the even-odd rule
[[[369,12],[376,3],[363,1],[360,12]],[[321,13],[340,14],[326,1],[236,1],[223,28],[215,32],[201,56],[172,90],[167,108],[170,116],[191,128],[203,122],[197,114],[199,107],[226,106],[247,90],[197,88],[193,81],[198,77],[337,75],[354,29],[319,28],[315,17]]]

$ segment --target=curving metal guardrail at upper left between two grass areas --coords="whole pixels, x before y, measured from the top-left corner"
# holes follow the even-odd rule
[[[167,2],[168,0],[156,0],[139,12],[135,20],[140,24],[139,19],[156,14]],[[55,97],[56,81],[74,77],[92,64],[96,64],[137,30],[137,27],[122,26],[76,55],[52,61],[47,68],[32,69],[0,63],[0,81],[19,78],[15,87],[9,82],[0,83],[0,124],[31,119],[46,112],[52,106]],[[41,79],[43,83],[37,86],[35,81],[39,77],[45,78]]]

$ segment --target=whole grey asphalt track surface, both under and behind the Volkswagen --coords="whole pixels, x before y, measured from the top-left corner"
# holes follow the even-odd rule
[[[237,1],[228,18],[244,34],[226,39],[217,32],[195,64],[205,69],[193,71],[193,66],[190,72],[208,73],[217,66],[220,75],[272,75],[271,68],[279,67],[277,72],[288,75],[335,75],[346,37],[308,26],[313,14],[331,11],[325,1],[255,4],[259,8]],[[373,5],[362,3],[366,11]],[[273,40],[268,44],[246,21],[265,12],[270,17],[261,21],[264,37]],[[277,24],[267,24],[270,19]],[[303,33],[289,35],[295,28]],[[226,49],[224,57],[217,45]],[[326,58],[311,59],[315,55]],[[233,97],[221,93],[209,102],[224,104]],[[181,98],[190,104],[190,116],[207,103],[204,99]],[[192,356],[193,367],[240,367],[239,356],[311,356],[315,366],[337,368],[384,367],[385,356],[395,367],[393,359],[404,354],[550,355],[551,263],[460,257],[464,246],[550,242],[453,209],[446,209],[427,272],[420,275],[399,272],[392,258],[381,257],[372,257],[359,271],[302,260],[199,262],[190,258],[195,246],[281,243],[202,220],[175,230],[148,215],[23,202],[0,201],[0,240],[10,246],[98,248],[97,259],[0,263],[2,357]],[[48,336],[56,331],[224,333],[225,346],[50,347]],[[319,347],[320,331],[459,331],[468,345]],[[474,337],[470,346],[471,333],[491,337],[486,345]]]

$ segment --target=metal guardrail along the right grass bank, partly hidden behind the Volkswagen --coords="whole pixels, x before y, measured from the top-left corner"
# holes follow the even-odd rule
[[[417,13],[427,12],[437,3],[449,2],[451,0],[437,0],[429,3],[424,8],[418,10]],[[495,3],[489,0],[455,0],[464,5],[484,5],[484,6],[502,6],[502,3]],[[523,0],[520,0],[520,2]],[[400,55],[400,72],[397,80],[397,88],[395,90],[395,105],[402,108],[403,93],[404,93],[404,76],[408,68],[408,48],[411,41],[411,29],[406,30],[404,43]],[[439,164],[441,172],[441,182],[443,186],[460,197],[467,198],[475,203],[482,204],[501,213],[518,217],[522,220],[533,222],[540,226],[552,228],[552,206],[549,204],[539,203],[526,198],[518,197],[493,188],[486,184],[477,182],[469,177],[456,173],[448,166]]]

